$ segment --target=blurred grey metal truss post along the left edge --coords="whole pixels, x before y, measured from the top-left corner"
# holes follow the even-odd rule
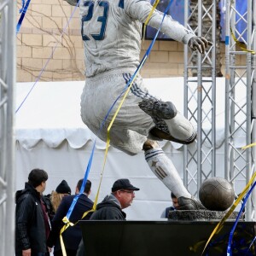
[[[15,255],[16,1],[0,0],[0,255]]]

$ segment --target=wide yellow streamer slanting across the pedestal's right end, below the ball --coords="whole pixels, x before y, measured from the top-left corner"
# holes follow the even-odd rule
[[[238,198],[236,199],[236,201],[234,202],[233,206],[230,207],[230,210],[224,215],[224,218],[222,218],[220,220],[220,222],[217,224],[217,226],[215,227],[215,229],[212,231],[211,236],[209,237],[209,239],[207,240],[207,244],[204,247],[204,250],[202,251],[201,255],[205,252],[208,243],[212,240],[212,236],[214,236],[215,234],[218,234],[218,232],[222,229],[223,224],[225,222],[225,220],[227,218],[230,217],[230,214],[235,210],[235,208],[237,207],[238,203],[241,201],[241,199],[244,197],[244,195],[247,193],[247,190],[249,189],[249,187],[251,186],[251,184],[253,183],[254,178],[256,177],[256,172],[253,173],[253,177],[251,177],[251,179],[249,180],[249,182],[247,183],[245,189],[242,190],[241,194],[238,196]]]

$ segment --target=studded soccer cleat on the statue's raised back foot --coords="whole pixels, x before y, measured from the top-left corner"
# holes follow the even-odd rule
[[[153,118],[173,119],[177,114],[177,109],[172,102],[143,99],[143,102],[139,102],[138,105]]]

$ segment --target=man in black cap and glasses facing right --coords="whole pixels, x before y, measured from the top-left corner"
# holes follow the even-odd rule
[[[129,179],[120,178],[113,183],[112,193],[106,195],[103,201],[96,206],[96,211],[92,213],[90,220],[125,220],[126,213],[123,209],[130,207],[135,192],[139,190],[133,186]],[[86,255],[84,251],[84,241],[81,240],[77,256]]]

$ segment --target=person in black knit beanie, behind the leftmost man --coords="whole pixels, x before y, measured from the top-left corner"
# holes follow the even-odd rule
[[[51,194],[44,196],[45,201],[47,202],[50,220],[54,218],[55,213],[60,206],[62,197],[67,195],[71,195],[71,189],[67,184],[67,181],[63,179],[56,189],[51,192]]]

